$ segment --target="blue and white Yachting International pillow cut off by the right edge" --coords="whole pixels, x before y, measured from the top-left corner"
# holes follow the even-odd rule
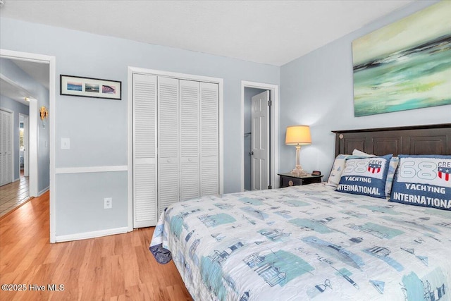
[[[451,156],[400,155],[390,202],[451,211]]]

